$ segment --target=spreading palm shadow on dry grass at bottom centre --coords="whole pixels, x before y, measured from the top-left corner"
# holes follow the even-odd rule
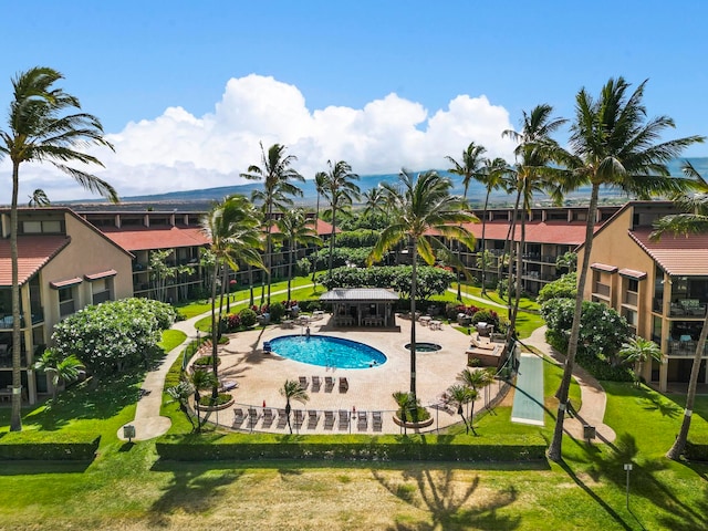
[[[458,481],[450,468],[404,470],[399,478],[372,471],[374,478],[402,501],[427,511],[430,521],[397,522],[389,530],[428,531],[434,529],[466,530],[470,525],[479,529],[512,530],[521,523],[520,517],[499,516],[497,511],[517,500],[513,488],[485,493],[483,500],[472,500],[480,479]],[[481,496],[481,494],[480,494]]]

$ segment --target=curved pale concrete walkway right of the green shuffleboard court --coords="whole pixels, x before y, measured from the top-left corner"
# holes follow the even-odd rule
[[[563,366],[565,363],[565,356],[545,342],[545,326],[534,330],[531,336],[521,343],[537,348],[560,366]],[[605,389],[602,388],[600,382],[577,364],[573,367],[573,377],[575,377],[580,385],[582,405],[574,416],[565,415],[563,430],[576,439],[583,439],[583,426],[595,426],[596,436],[600,441],[613,442],[616,438],[615,431],[603,423],[605,407],[607,405]]]

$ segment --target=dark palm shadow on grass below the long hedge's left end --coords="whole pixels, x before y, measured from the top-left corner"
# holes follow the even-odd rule
[[[183,467],[189,467],[184,469]],[[220,469],[198,464],[180,464],[171,469],[171,480],[163,488],[162,496],[148,509],[150,529],[168,527],[169,516],[181,511],[198,517],[222,503],[223,490],[237,481],[242,472]]]

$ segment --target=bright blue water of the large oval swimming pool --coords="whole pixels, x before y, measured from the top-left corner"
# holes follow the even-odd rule
[[[369,368],[386,363],[384,353],[373,346],[326,335],[282,335],[270,344],[279,356],[321,367]]]

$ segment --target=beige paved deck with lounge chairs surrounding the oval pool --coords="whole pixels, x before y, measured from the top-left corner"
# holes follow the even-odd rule
[[[330,325],[329,315],[323,320],[310,324],[311,334],[323,334],[333,337],[344,337],[368,344],[382,351],[387,362],[372,368],[343,369],[327,368],[305,363],[295,362],[280,357],[277,353],[264,353],[263,342],[281,335],[304,334],[305,330],[300,326],[294,329],[281,329],[269,326],[264,330],[239,332],[230,335],[229,344],[220,347],[221,365],[219,376],[221,379],[236,379],[238,388],[232,389],[237,408],[256,408],[259,414],[258,420],[250,426],[248,417],[238,425],[233,423],[233,409],[219,412],[219,424],[237,429],[260,430],[284,433],[287,427],[278,421],[277,409],[284,408],[285,402],[279,389],[285,379],[295,379],[304,376],[308,378],[308,394],[310,400],[305,404],[292,403],[293,409],[316,410],[319,420],[316,426],[309,426],[308,414],[304,413],[305,420],[299,428],[300,433],[384,433],[398,434],[400,429],[393,421],[393,412],[396,403],[392,394],[396,391],[406,392],[410,386],[410,355],[405,348],[410,341],[410,321],[396,317],[396,326],[389,329],[381,327],[334,327]],[[417,395],[423,405],[434,405],[440,402],[440,395],[454,383],[456,376],[467,364],[466,350],[469,347],[469,336],[462,334],[449,325],[444,325],[441,330],[430,330],[428,326],[416,325],[416,342],[438,343],[442,348],[438,352],[417,353]],[[312,388],[312,376],[319,376],[322,387],[319,391]],[[336,378],[335,385],[329,392],[325,391],[325,377]],[[340,392],[339,382],[341,377],[348,381],[348,389]],[[500,384],[494,382],[489,392],[480,393],[480,398],[475,409],[483,407],[487,400],[491,400],[500,388]],[[272,408],[275,419],[263,426],[262,406]],[[335,421],[333,426],[325,427],[324,412],[334,412]],[[340,424],[339,412],[368,412],[367,423]],[[381,429],[374,430],[371,412],[383,412],[383,425]],[[435,430],[460,421],[458,415],[451,409],[430,409],[435,419],[434,424],[425,430]],[[216,415],[211,415],[210,420],[216,420]],[[292,419],[292,418],[291,418]],[[423,430],[423,431],[425,431]]]

